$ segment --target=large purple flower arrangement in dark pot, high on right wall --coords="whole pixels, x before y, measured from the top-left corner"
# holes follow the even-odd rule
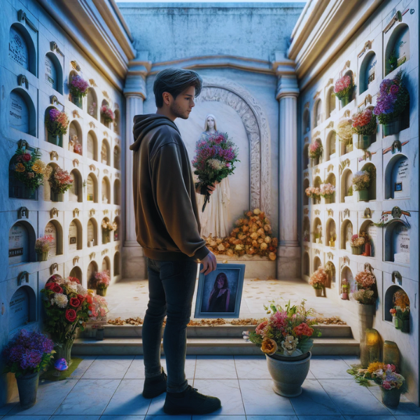
[[[409,92],[405,87],[405,76],[398,71],[393,79],[384,79],[379,87],[377,105],[373,113],[384,125],[384,137],[400,132],[402,113],[409,103]]]

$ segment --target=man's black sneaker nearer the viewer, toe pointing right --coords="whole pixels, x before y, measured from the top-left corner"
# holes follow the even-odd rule
[[[221,400],[197,392],[196,388],[188,385],[181,395],[168,392],[163,411],[166,414],[209,414],[221,408]]]

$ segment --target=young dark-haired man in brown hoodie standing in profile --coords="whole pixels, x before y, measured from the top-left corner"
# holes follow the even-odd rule
[[[137,241],[148,265],[149,302],[142,331],[145,376],[143,395],[167,391],[167,414],[207,414],[221,407],[218,398],[202,395],[185,375],[186,328],[190,322],[197,276],[216,269],[216,257],[200,237],[195,184],[176,118],[188,119],[202,89],[195,71],[169,68],[153,84],[155,114],[134,117],[134,213]],[[214,186],[209,187],[212,193]],[[168,375],[160,365],[163,347]]]

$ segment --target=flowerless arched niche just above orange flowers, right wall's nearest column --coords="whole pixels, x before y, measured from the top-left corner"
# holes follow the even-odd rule
[[[409,264],[409,228],[400,219],[386,226],[385,261]]]

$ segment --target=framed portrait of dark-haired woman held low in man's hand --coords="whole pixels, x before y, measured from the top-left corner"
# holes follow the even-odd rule
[[[200,273],[194,317],[239,318],[244,275],[244,264],[218,264],[207,276]]]

